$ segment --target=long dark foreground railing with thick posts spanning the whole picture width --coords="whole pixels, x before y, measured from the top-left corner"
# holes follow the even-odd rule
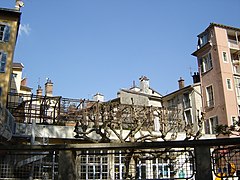
[[[239,141],[0,145],[0,179],[238,179]]]

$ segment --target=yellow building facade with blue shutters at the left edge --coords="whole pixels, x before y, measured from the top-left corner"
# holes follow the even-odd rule
[[[6,107],[21,12],[0,8],[0,103]]]

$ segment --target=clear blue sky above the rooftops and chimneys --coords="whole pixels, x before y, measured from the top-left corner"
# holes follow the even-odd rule
[[[192,83],[197,35],[211,22],[240,27],[239,0],[25,0],[15,61],[28,85],[54,95],[115,98],[140,76],[162,95]],[[13,8],[14,0],[0,0]]]

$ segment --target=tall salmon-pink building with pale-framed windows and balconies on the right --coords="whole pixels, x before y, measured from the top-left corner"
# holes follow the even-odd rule
[[[197,57],[205,113],[205,131],[233,125],[239,117],[240,29],[211,23],[198,35]]]

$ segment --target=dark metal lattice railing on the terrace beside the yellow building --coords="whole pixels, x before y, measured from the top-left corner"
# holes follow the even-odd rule
[[[55,123],[60,113],[61,97],[9,93],[7,109],[17,122]]]

